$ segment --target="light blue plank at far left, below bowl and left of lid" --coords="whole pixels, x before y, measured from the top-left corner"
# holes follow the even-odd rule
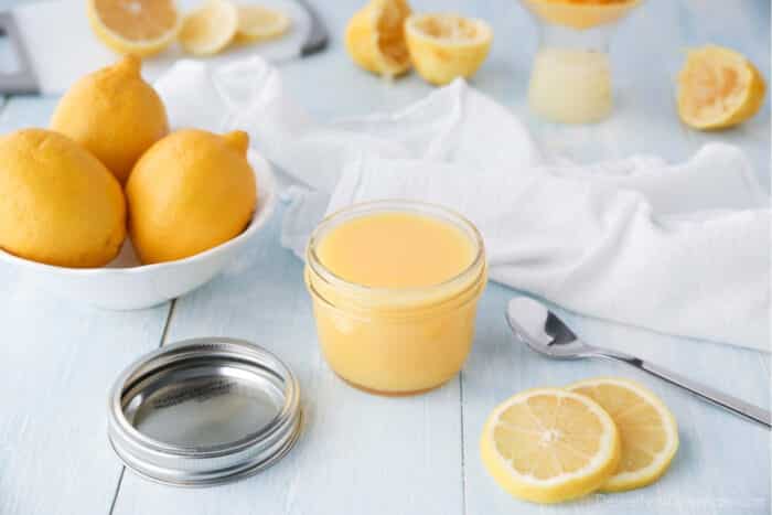
[[[53,107],[13,98],[0,133],[45,126]],[[168,310],[74,304],[0,267],[0,514],[109,513],[122,466],[107,441],[107,393],[160,344]]]

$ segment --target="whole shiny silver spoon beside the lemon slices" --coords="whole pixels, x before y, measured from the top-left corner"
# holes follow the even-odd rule
[[[506,320],[517,340],[539,354],[559,360],[603,357],[626,363],[673,385],[680,386],[736,415],[759,422],[766,428],[772,428],[772,417],[766,409],[718,391],[630,354],[588,345],[579,340],[562,320],[549,311],[546,305],[534,299],[527,297],[515,297],[512,299],[506,311]]]

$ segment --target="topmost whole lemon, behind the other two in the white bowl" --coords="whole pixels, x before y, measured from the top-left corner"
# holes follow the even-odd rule
[[[169,132],[167,110],[140,75],[139,57],[86,75],[62,97],[51,129],[96,155],[122,183],[139,157]]]

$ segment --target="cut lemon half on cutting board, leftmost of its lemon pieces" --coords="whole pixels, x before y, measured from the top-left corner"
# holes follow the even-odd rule
[[[174,0],[88,0],[86,13],[96,36],[120,54],[157,54],[181,25]]]

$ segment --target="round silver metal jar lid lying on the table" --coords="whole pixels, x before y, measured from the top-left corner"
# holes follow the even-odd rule
[[[159,483],[235,481],[270,466],[298,440],[299,389],[289,367],[258,345],[185,340],[120,375],[109,440],[128,468]]]

